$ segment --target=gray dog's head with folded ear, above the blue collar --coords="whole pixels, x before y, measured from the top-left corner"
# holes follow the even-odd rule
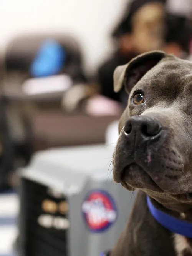
[[[119,121],[114,181],[142,189],[170,209],[192,207],[192,63],[164,52],[114,71],[129,101]]]

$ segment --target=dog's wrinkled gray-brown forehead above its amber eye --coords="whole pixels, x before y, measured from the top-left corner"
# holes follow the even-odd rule
[[[133,91],[140,89],[167,104],[178,96],[192,95],[192,63],[165,58],[133,86]]]

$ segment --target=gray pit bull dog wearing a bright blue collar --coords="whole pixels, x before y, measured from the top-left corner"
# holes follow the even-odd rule
[[[114,71],[114,90],[129,102],[119,121],[113,177],[139,189],[131,217],[110,256],[189,256],[192,238],[159,224],[161,211],[192,223],[192,63],[164,52],[139,55]]]

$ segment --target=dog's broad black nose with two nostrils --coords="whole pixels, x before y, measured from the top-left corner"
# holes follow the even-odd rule
[[[161,131],[159,123],[149,116],[132,116],[124,127],[126,136],[132,134],[141,134],[145,138],[151,138],[158,135]]]

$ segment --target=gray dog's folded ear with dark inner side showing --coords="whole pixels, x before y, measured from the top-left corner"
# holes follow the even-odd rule
[[[113,73],[114,91],[120,91],[124,85],[129,93],[142,76],[164,57],[166,53],[152,51],[137,56],[126,65],[118,66]]]

